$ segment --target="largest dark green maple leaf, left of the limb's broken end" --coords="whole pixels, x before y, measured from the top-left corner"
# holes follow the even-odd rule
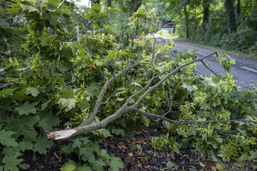
[[[19,116],[17,115],[17,121],[11,125],[10,129],[15,133],[16,138],[19,135],[23,135],[27,139],[35,140],[37,132],[34,125],[39,121],[39,117],[36,116]]]

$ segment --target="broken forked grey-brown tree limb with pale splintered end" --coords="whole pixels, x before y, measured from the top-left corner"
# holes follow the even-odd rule
[[[143,50],[142,50],[143,51]],[[184,73],[179,73],[178,71],[185,67],[185,66],[188,66],[194,62],[197,62],[197,61],[202,61],[204,58],[207,58],[213,54],[215,54],[215,52],[209,54],[209,55],[206,55],[202,58],[198,58],[198,59],[195,59],[195,60],[192,60],[190,62],[187,62],[183,65],[180,65],[178,66],[176,69],[174,69],[172,72],[169,72],[168,70],[162,72],[161,74],[164,74],[166,72],[168,72],[169,74],[167,74],[162,80],[160,80],[158,83],[156,83],[154,86],[150,87],[150,84],[152,83],[152,81],[157,78],[155,76],[155,74],[153,74],[151,80],[148,82],[148,84],[143,87],[142,89],[140,89],[138,92],[134,93],[133,95],[131,95],[130,97],[128,97],[127,101],[124,103],[124,105],[119,108],[115,113],[113,113],[112,115],[106,117],[105,119],[103,119],[102,121],[100,121],[99,123],[94,123],[94,124],[91,124],[93,122],[93,120],[95,119],[96,115],[97,115],[97,112],[99,110],[99,107],[103,100],[103,97],[109,87],[109,85],[116,79],[118,78],[119,76],[123,75],[124,73],[128,72],[129,70],[131,70],[132,68],[134,67],[137,67],[137,66],[140,66],[140,63],[135,63],[135,64],[132,64],[131,66],[129,66],[128,68],[122,70],[121,72],[119,72],[118,74],[114,75],[111,79],[107,80],[107,82],[105,83],[105,85],[102,87],[102,90],[98,96],[98,99],[97,99],[97,102],[95,104],[95,108],[93,109],[93,112],[92,114],[89,116],[89,118],[81,123],[81,125],[79,125],[79,127],[76,127],[76,128],[73,128],[73,129],[67,129],[67,130],[61,130],[61,131],[54,131],[54,132],[48,132],[48,138],[49,139],[67,139],[67,138],[70,138],[70,137],[73,137],[73,136],[76,136],[76,135],[81,135],[81,134],[85,134],[85,133],[89,133],[91,131],[94,131],[94,130],[98,130],[98,129],[102,129],[102,128],[105,128],[109,123],[111,123],[112,121],[115,121],[116,119],[118,119],[119,117],[121,117],[124,113],[128,113],[128,112],[136,112],[136,113],[139,113],[141,115],[144,115],[146,117],[149,117],[149,118],[158,118],[158,119],[161,119],[161,120],[164,120],[164,121],[168,121],[170,123],[173,123],[173,124],[197,124],[197,125],[203,125],[206,124],[206,123],[221,123],[221,122],[244,122],[244,123],[256,123],[257,124],[257,121],[251,121],[251,120],[245,120],[245,119],[238,119],[238,120],[234,120],[234,119],[231,119],[231,120],[212,120],[212,121],[196,121],[195,119],[191,119],[191,120],[181,120],[181,121],[176,121],[176,120],[171,120],[171,119],[168,119],[164,116],[161,116],[161,115],[156,115],[156,114],[152,114],[152,113],[147,113],[147,112],[144,112],[144,111],[141,111],[139,109],[137,109],[137,106],[139,103],[141,103],[143,101],[143,99],[151,92],[153,91],[154,89],[156,89],[158,86],[160,86],[165,80],[167,80],[171,75],[173,74],[184,74]],[[142,54],[142,53],[141,53]],[[152,63],[152,62],[151,62]],[[160,76],[160,75],[158,75]],[[146,90],[146,91],[145,91]],[[138,100],[131,106],[128,106],[128,103],[131,101],[131,99],[133,97],[135,97],[136,95],[139,95],[140,93],[142,93],[143,91],[145,91],[139,98]],[[215,111],[216,112],[216,111]],[[256,125],[257,126],[257,125]],[[223,130],[218,130],[216,129],[215,131],[217,132],[222,132],[222,133],[228,133],[228,131],[223,131]],[[231,132],[231,131],[230,131]]]

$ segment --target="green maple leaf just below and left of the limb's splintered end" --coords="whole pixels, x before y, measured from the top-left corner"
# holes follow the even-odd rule
[[[48,141],[47,136],[39,136],[37,138],[36,144],[34,144],[34,152],[38,151],[40,154],[46,154],[46,148],[51,148],[54,145],[52,141]]]

